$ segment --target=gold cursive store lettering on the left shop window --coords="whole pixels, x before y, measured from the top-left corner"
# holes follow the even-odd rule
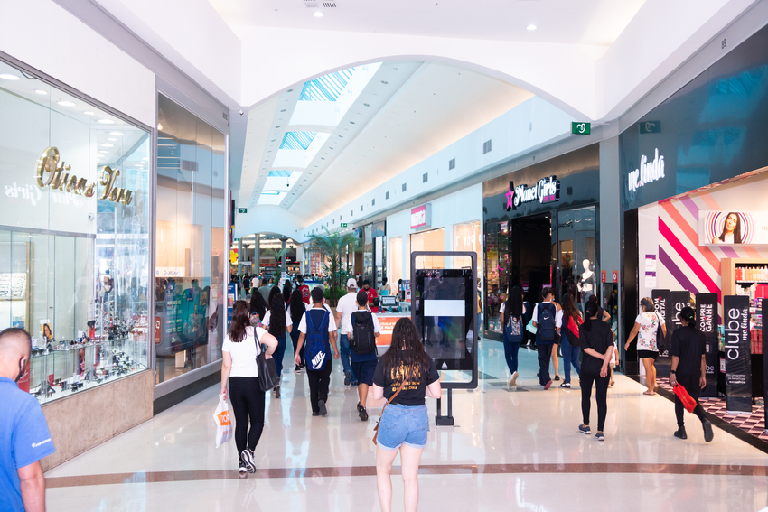
[[[85,178],[78,178],[74,174],[70,175],[70,169],[69,163],[60,161],[59,150],[55,147],[49,147],[42,152],[40,160],[37,162],[37,184],[42,189],[50,186],[53,190],[83,195],[87,198],[93,197],[93,194],[96,193],[96,183],[89,182]],[[47,181],[43,181],[45,172],[49,174]],[[131,204],[133,191],[115,187],[115,180],[119,175],[119,170],[111,169],[108,165],[102,168],[101,184],[104,186],[104,190],[98,199],[121,202],[125,205]]]

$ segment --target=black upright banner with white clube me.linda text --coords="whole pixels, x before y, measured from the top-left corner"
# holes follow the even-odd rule
[[[726,411],[752,412],[752,371],[749,343],[749,297],[723,297],[723,330],[726,352]]]

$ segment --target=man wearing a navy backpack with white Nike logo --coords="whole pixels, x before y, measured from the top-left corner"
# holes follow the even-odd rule
[[[312,405],[313,416],[328,414],[328,386],[331,385],[331,353],[334,359],[339,358],[336,348],[336,321],[331,312],[323,308],[323,291],[314,288],[312,309],[304,312],[299,323],[298,344],[296,345],[296,365],[302,365],[302,347],[306,362],[306,377],[309,380],[309,402]],[[331,352],[333,347],[333,352]]]

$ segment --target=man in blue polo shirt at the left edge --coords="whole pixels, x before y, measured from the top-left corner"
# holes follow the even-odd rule
[[[16,382],[29,362],[31,340],[23,329],[0,332],[0,510],[45,510],[40,460],[53,442],[37,400]]]

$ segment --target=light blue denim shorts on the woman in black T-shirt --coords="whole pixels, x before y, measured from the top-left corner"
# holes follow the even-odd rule
[[[389,404],[381,416],[377,442],[384,450],[397,450],[403,444],[424,448],[427,430],[426,405]]]

